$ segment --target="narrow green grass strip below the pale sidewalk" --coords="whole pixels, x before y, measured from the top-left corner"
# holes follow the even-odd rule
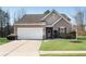
[[[86,53],[69,53],[69,54],[40,54],[40,56],[86,56]]]

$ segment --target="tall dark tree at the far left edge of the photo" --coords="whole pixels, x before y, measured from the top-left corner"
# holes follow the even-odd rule
[[[10,14],[0,9],[0,37],[8,35],[10,25]],[[7,27],[7,29],[5,29]]]

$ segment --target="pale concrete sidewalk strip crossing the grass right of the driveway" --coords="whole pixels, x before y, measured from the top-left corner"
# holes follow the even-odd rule
[[[39,51],[40,54],[86,53],[86,51]]]

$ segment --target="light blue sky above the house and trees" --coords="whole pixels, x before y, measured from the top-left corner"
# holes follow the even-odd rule
[[[85,7],[1,7],[2,10],[10,13],[10,22],[13,24],[14,13],[19,14],[21,9],[25,11],[26,14],[42,14],[46,10],[56,10],[59,13],[64,13],[71,18],[71,23],[75,23],[74,15],[77,10],[85,11]]]

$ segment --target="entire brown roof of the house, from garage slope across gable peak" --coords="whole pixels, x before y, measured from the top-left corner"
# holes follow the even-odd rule
[[[25,14],[22,18],[19,20],[15,24],[44,24],[46,22],[45,18],[49,16],[51,13],[56,13],[60,15],[63,20],[65,20],[70,24],[70,18],[65,14],[60,14],[56,10],[52,10],[50,13],[46,14]]]

